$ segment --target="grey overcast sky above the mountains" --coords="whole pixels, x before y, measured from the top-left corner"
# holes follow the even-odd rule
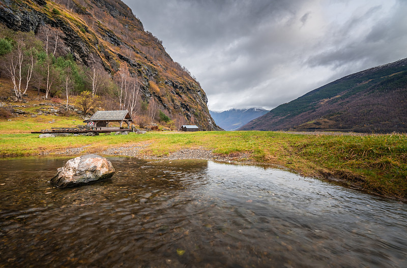
[[[406,0],[125,0],[208,95],[268,110],[407,57]]]

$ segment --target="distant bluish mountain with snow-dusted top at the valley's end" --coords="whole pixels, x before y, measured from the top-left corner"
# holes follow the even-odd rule
[[[225,130],[236,130],[254,118],[264,115],[268,110],[250,109],[230,109],[223,112],[209,111],[217,124]]]

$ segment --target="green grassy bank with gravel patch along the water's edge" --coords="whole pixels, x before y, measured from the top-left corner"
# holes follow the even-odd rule
[[[340,181],[382,196],[407,199],[405,134],[333,136],[270,131],[168,131],[46,139],[33,134],[0,135],[1,157],[86,153],[272,164],[303,176]]]

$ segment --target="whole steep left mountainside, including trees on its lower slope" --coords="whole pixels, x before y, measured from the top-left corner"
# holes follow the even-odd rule
[[[3,89],[19,100],[38,90],[68,107],[69,96],[91,92],[95,107],[127,109],[142,125],[161,114],[174,125],[219,129],[199,83],[121,1],[3,0],[0,22],[2,77],[11,71],[13,81]]]

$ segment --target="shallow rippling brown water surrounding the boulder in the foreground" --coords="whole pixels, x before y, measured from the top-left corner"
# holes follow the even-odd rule
[[[407,267],[407,205],[283,170],[108,158],[109,180],[47,181],[65,159],[0,161],[0,267]]]

